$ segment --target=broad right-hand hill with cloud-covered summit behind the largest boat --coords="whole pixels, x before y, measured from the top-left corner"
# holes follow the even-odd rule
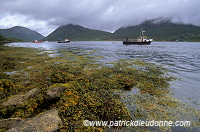
[[[200,41],[200,27],[175,24],[170,20],[147,20],[136,26],[119,28],[114,34],[137,38],[141,28],[145,30],[145,35],[157,41]]]

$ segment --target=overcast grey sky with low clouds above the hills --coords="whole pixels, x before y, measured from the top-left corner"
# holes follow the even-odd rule
[[[0,0],[0,29],[24,26],[48,35],[70,23],[115,31],[146,19],[200,26],[200,0]]]

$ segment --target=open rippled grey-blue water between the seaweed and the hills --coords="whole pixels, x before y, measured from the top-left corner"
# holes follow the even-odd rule
[[[151,45],[123,45],[116,41],[74,41],[70,43],[10,43],[9,46],[43,48],[47,50],[97,50],[100,61],[140,58],[164,65],[170,74],[180,79],[172,82],[174,96],[200,109],[200,42],[152,42]]]

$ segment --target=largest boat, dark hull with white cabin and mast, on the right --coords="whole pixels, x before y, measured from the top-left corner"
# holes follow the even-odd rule
[[[153,39],[147,39],[147,36],[144,35],[143,29],[141,29],[140,36],[138,36],[136,41],[129,41],[126,37],[126,41],[123,41],[124,45],[149,45]]]

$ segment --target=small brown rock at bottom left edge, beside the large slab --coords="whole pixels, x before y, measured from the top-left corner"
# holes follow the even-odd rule
[[[8,118],[8,119],[2,119],[0,120],[0,129],[1,128],[6,128],[16,122],[21,121],[21,118]]]

